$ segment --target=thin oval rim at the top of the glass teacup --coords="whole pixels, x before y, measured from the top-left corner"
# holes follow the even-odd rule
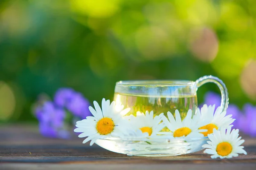
[[[116,82],[116,85],[131,85],[131,86],[155,86],[155,85],[193,85],[195,82],[191,80],[180,79],[150,79],[150,80],[124,80]]]

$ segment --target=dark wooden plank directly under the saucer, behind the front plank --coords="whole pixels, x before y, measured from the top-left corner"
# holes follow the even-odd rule
[[[256,147],[247,146],[247,155],[241,155],[234,159],[256,159]],[[58,157],[58,156],[73,156],[73,157],[128,157],[128,158],[140,158],[136,156],[126,156],[124,154],[114,153],[105,150],[97,145],[94,146],[70,146],[70,145],[20,145],[20,146],[0,146],[0,158],[3,157]],[[149,157],[147,159],[151,159]],[[210,159],[209,155],[204,154],[202,151],[184,156],[172,156],[172,157],[160,157],[162,159],[172,158],[172,160],[186,160],[186,159]],[[155,157],[155,159],[159,159]],[[210,159],[211,160],[211,159]]]

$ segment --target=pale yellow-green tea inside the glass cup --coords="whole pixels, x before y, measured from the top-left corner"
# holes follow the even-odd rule
[[[137,96],[131,94],[114,94],[114,101],[122,103],[124,108],[131,108],[127,115],[136,116],[136,112],[154,111],[154,116],[164,113],[167,117],[167,112],[170,111],[175,116],[175,110],[180,112],[181,119],[186,117],[189,109],[192,110],[192,115],[197,109],[197,96]]]

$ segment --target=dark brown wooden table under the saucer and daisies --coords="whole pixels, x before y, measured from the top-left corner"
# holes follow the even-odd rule
[[[36,125],[0,125],[0,170],[256,170],[256,139],[243,136],[247,155],[211,159],[202,151],[183,156],[137,157],[105,150],[96,144],[48,139]]]

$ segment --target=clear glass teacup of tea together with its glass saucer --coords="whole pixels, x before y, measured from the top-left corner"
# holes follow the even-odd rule
[[[221,110],[226,111],[228,105],[227,88],[220,79],[213,76],[204,76],[195,82],[188,80],[120,81],[116,83],[114,101],[116,101],[116,104],[124,105],[124,108],[131,108],[128,115],[137,116],[137,111],[143,113],[154,111],[154,117],[160,115],[160,113],[167,116],[167,112],[170,111],[175,117],[175,110],[178,110],[181,119],[184,119],[189,109],[192,110],[192,116],[196,114],[198,107],[196,92],[201,85],[207,82],[214,82],[220,88]],[[139,125],[142,123],[138,122]],[[168,132],[168,128],[164,128],[167,127],[163,127],[161,132]],[[140,130],[142,129],[140,128]],[[146,129],[144,128],[144,130]],[[175,156],[201,150],[201,146],[206,144],[208,137],[186,140],[173,137],[168,139],[167,136],[160,135],[150,136],[146,140],[111,137],[98,139],[96,144],[107,150],[127,155]]]

